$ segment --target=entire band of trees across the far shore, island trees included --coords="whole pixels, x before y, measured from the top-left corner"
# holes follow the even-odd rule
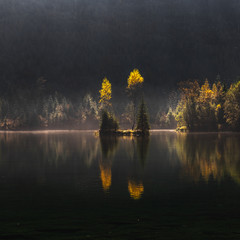
[[[117,103],[112,101],[112,85],[107,78],[98,95],[87,93],[75,99],[49,91],[47,81],[39,78],[32,88],[13,88],[0,97],[0,128],[106,129],[110,124],[112,129],[119,125],[149,129],[151,125],[189,131],[240,130],[240,81],[229,87],[219,79],[212,85],[208,80],[203,84],[186,81],[180,83],[178,91],[168,94],[165,103],[145,101],[143,83],[139,70],[134,69],[125,87],[127,98]],[[153,105],[157,106],[154,111]]]

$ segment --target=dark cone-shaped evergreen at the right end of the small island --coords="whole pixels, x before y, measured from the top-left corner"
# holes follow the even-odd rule
[[[139,106],[136,129],[140,130],[142,133],[148,133],[150,129],[146,104],[143,99]]]

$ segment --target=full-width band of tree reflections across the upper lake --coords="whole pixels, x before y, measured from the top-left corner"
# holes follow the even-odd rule
[[[239,134],[153,133],[96,137],[93,133],[0,134],[0,184],[69,184],[84,191],[127,191],[140,199],[149,180],[240,183]],[[113,178],[114,180],[113,184]],[[121,187],[120,187],[121,186]]]

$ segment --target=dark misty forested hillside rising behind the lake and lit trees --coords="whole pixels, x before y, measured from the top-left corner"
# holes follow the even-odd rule
[[[179,82],[236,82],[239,20],[237,0],[1,0],[1,118],[40,126],[30,115],[61,103],[78,121],[61,126],[97,128],[96,119],[82,124],[96,111],[102,79],[111,81],[121,117],[129,73],[138,68],[153,127],[171,127],[159,121],[176,108]]]

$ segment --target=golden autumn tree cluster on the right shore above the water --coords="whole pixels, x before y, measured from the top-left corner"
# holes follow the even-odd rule
[[[178,129],[189,131],[240,130],[240,81],[229,88],[218,80],[206,79],[180,84],[180,100],[175,110]]]

